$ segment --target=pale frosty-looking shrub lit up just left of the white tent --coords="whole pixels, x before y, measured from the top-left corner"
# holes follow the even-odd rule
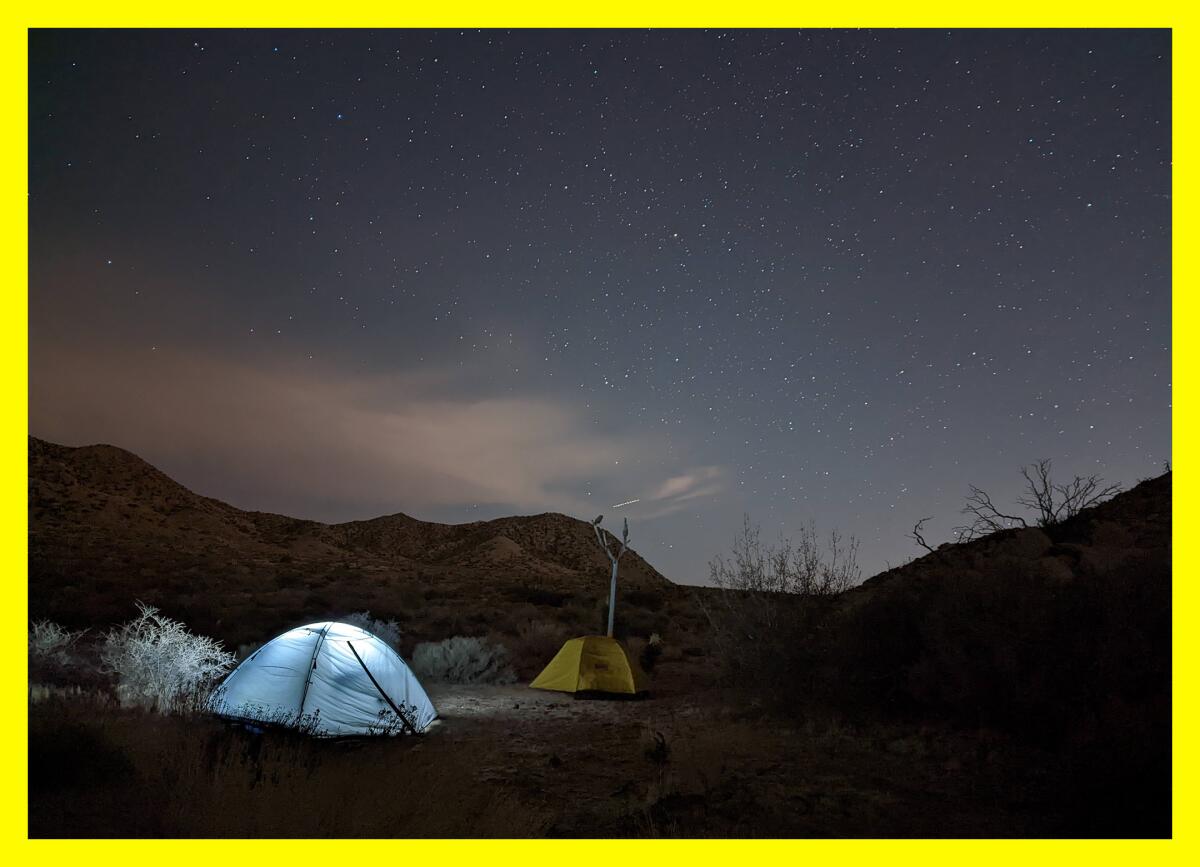
[[[138,603],[139,615],[104,635],[101,660],[116,676],[122,705],[158,712],[203,707],[216,681],[234,664],[220,641]]]

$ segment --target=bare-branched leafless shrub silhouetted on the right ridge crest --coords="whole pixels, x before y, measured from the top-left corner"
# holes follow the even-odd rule
[[[1066,484],[1057,484],[1050,477],[1048,459],[1021,467],[1021,476],[1025,478],[1025,492],[1016,498],[1016,503],[1033,513],[1033,522],[1038,527],[1051,527],[1069,520],[1121,491],[1120,484],[1104,484],[1099,476],[1076,476]],[[1001,512],[991,496],[974,485],[970,485],[962,514],[968,516],[968,521],[954,528],[959,542],[970,542],[1000,530],[1030,526],[1021,515]]]

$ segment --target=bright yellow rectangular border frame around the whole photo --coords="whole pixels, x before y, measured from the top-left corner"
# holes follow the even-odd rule
[[[710,0],[667,0],[654,4],[616,0],[599,7],[551,4],[545,0],[522,0],[518,4],[485,4],[468,0],[452,7],[415,6],[365,2],[354,8],[330,7],[313,2],[269,2],[248,8],[244,2],[211,0],[199,8],[174,7],[169,4],[120,1],[116,4],[82,4],[66,0],[53,6],[0,12],[0,68],[6,86],[2,138],[5,154],[5,208],[2,210],[4,258],[8,277],[0,294],[0,389],[4,400],[2,448],[0,448],[0,479],[4,497],[0,500],[0,550],[4,551],[5,599],[11,622],[26,620],[26,540],[28,540],[28,479],[26,435],[28,418],[28,29],[30,28],[222,28],[222,26],[292,26],[292,28],[430,28],[430,26],[1104,26],[1104,28],[1170,28],[1174,48],[1174,143],[1190,144],[1195,122],[1194,94],[1196,80],[1196,40],[1192,16],[1181,2],[1144,1],[1139,4],[1097,4],[1066,0],[1056,4],[1015,0],[1000,8],[971,4],[923,2],[919,7],[868,0],[853,5],[823,5],[808,7],[800,4],[762,2],[715,4]],[[1181,134],[1182,131],[1182,134]],[[1172,144],[1174,144],[1172,143]],[[1190,163],[1176,160],[1172,185],[1172,205],[1177,192],[1194,191]],[[1192,213],[1174,208],[1175,237],[1190,237]],[[1175,286],[1190,285],[1195,271],[1195,252],[1180,245],[1174,253]],[[1190,331],[1196,323],[1196,303],[1189,292],[1172,292],[1172,381],[1183,381],[1182,406],[1172,417],[1172,440],[1178,454],[1174,467],[1181,472],[1176,490],[1184,494],[1176,498],[1176,520],[1182,526],[1194,526],[1198,508],[1192,484],[1190,427],[1195,402],[1187,390],[1195,379],[1196,353],[1188,341],[1178,336]],[[1182,373],[1182,376],[1181,376]],[[1178,485],[1182,483],[1182,488]],[[570,863],[572,867],[607,867],[616,859],[650,862],[713,862],[755,859],[779,861],[845,862],[880,861],[895,863],[954,865],[1028,865],[1070,862],[1086,859],[1091,863],[1130,861],[1166,862],[1194,860],[1187,856],[1193,849],[1192,820],[1195,797],[1190,785],[1195,769],[1195,748],[1189,742],[1188,723],[1195,719],[1195,695],[1190,687],[1195,640],[1183,627],[1195,614],[1195,591],[1188,579],[1196,573],[1192,550],[1175,552],[1175,803],[1171,841],[29,841],[26,839],[26,666],[25,654],[17,652],[19,663],[8,660],[4,674],[2,755],[5,781],[2,845],[5,855],[16,863],[28,861],[96,861],[122,865],[173,862],[202,863],[212,859],[305,857],[361,859],[364,856],[428,861],[434,863],[486,859],[502,863]],[[1183,580],[1178,580],[1180,576]],[[18,627],[23,630],[23,627]],[[18,633],[19,634],[19,633]]]

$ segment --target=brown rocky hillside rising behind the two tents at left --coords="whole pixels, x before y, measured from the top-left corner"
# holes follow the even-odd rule
[[[144,599],[227,641],[364,609],[438,636],[546,614],[529,606],[592,630],[610,570],[568,515],[320,524],[199,496],[113,446],[34,437],[29,526],[32,617],[95,627]],[[626,621],[652,629],[676,586],[632,550],[620,575]]]

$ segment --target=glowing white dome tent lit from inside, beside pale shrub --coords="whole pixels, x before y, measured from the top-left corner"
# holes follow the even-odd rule
[[[209,701],[227,719],[322,737],[421,733],[438,712],[391,647],[349,623],[310,623],[271,639]]]

